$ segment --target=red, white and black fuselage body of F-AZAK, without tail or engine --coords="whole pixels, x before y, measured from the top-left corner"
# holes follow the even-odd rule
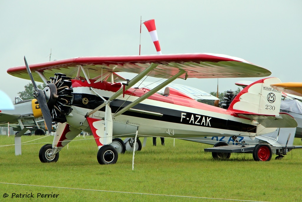
[[[82,131],[91,132],[85,118],[104,100],[110,98],[122,84],[72,80],[72,112],[66,116],[67,123]],[[129,88],[110,103],[112,114],[124,108],[149,90]],[[92,114],[92,118],[103,119],[105,108]],[[121,115],[114,117],[113,136],[133,137],[139,135],[160,137],[196,136],[255,136],[257,122],[239,118],[232,111],[200,103],[185,94],[171,89],[165,97],[153,94]]]

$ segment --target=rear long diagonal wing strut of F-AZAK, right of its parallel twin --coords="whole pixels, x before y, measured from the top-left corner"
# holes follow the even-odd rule
[[[174,75],[171,78],[169,78],[168,80],[162,82],[161,84],[159,84],[158,86],[156,86],[155,88],[153,88],[152,90],[150,90],[149,92],[147,92],[146,94],[141,96],[140,98],[137,98],[137,100],[131,102],[126,107],[124,107],[123,109],[121,109],[117,113],[113,114],[112,117],[116,117],[116,116],[124,113],[125,111],[129,110],[134,105],[136,105],[136,104],[140,103],[141,101],[145,100],[146,98],[150,97],[151,95],[153,95],[154,93],[159,91],[161,88],[165,87],[167,84],[171,83],[172,81],[174,81],[175,79],[177,79],[178,77],[183,75],[184,73],[185,73],[185,70],[180,70],[176,75]]]

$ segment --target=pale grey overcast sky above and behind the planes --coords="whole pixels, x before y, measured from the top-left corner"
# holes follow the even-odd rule
[[[13,100],[30,82],[6,72],[24,65],[24,55],[29,64],[49,61],[50,49],[51,60],[138,55],[141,16],[155,19],[163,54],[236,56],[270,70],[282,82],[302,82],[301,10],[300,0],[0,0],[0,89]],[[141,55],[154,54],[142,25]],[[236,90],[240,80],[258,78],[219,79],[219,91]],[[217,79],[174,83],[207,92],[217,88]]]

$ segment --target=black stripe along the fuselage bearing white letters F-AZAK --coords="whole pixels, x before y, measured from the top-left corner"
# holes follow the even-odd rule
[[[88,98],[88,103],[83,103],[83,98]],[[108,98],[105,98],[108,99]],[[86,108],[86,109],[95,109],[99,105],[103,104],[104,101],[96,95],[92,94],[82,94],[82,93],[74,93],[73,94],[73,101],[72,105],[76,107]],[[124,100],[114,100],[110,103],[111,111],[116,113],[117,111],[123,109],[130,101]],[[232,120],[225,120],[216,117],[209,117],[204,116],[202,114],[194,114],[191,112],[179,111],[175,109],[163,108],[154,105],[142,104],[139,103],[133,106],[133,109],[143,110],[143,111],[150,111],[155,113],[163,114],[162,116],[154,116],[150,114],[142,114],[133,111],[126,111],[123,115],[133,116],[133,117],[140,117],[146,119],[152,119],[157,121],[165,121],[171,123],[178,123],[178,124],[187,124],[187,125],[194,125],[194,126],[203,126],[203,127],[210,127],[210,128],[217,128],[217,129],[224,129],[224,130],[233,130],[233,131],[242,131],[242,132],[256,132],[256,126],[251,124],[244,124],[237,121]],[[101,108],[99,111],[105,111],[105,108]]]

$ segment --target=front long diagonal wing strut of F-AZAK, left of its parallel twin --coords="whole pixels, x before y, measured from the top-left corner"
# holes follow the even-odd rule
[[[125,86],[125,91],[131,88],[134,84],[140,81],[144,76],[146,76],[150,71],[152,71],[156,67],[157,64],[151,63],[149,67],[147,67],[144,71],[142,71],[140,74],[134,77],[131,81],[129,81],[128,85]],[[95,113],[99,109],[103,108],[106,105],[106,103],[109,103],[110,101],[116,99],[121,94],[123,94],[123,88],[120,88],[118,91],[116,91],[116,93],[114,93],[106,102],[104,102],[103,104],[92,110],[91,112],[87,113],[86,116],[90,116],[91,114]]]

